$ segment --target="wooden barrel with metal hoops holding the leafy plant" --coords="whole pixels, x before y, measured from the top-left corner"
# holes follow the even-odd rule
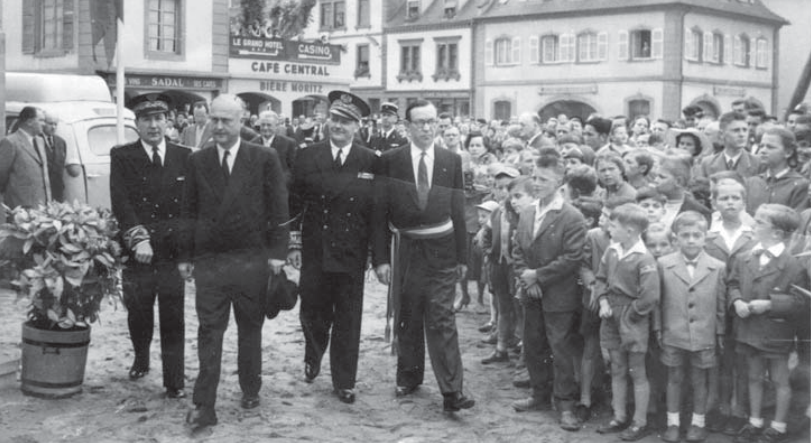
[[[89,344],[90,327],[45,330],[23,323],[23,393],[65,398],[82,392]]]

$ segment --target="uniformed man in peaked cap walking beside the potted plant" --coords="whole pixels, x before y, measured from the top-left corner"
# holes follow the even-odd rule
[[[164,137],[169,97],[144,94],[133,106],[140,139],[110,151],[110,200],[130,258],[124,303],[135,350],[130,380],[149,372],[149,347],[160,315],[163,385],[169,398],[184,388],[183,279],[177,270],[180,200],[191,150]]]

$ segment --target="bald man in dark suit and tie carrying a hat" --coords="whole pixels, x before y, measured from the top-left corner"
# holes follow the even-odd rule
[[[186,227],[181,276],[195,272],[200,374],[187,422],[214,425],[223,334],[231,306],[238,328],[237,370],[245,409],[259,406],[262,325],[269,272],[287,258],[287,187],[276,151],[240,138],[241,100],[222,94],[211,103],[214,144],[189,157],[183,191]],[[192,261],[194,263],[192,264]]]

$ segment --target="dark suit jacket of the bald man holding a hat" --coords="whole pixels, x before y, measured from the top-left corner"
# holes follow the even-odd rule
[[[181,260],[222,253],[287,257],[287,187],[276,151],[240,140],[226,184],[215,145],[189,157]]]

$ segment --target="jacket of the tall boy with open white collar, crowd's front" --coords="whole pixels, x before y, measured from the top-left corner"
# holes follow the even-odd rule
[[[586,223],[583,215],[569,203],[560,210],[551,209],[535,235],[537,205],[526,208],[518,220],[515,233],[515,274],[534,269],[543,292],[544,312],[570,312],[580,306],[577,284]]]

